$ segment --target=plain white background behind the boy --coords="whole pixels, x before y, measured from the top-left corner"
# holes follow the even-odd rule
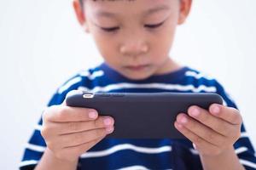
[[[172,56],[224,84],[256,145],[256,1],[198,0]],[[102,59],[71,0],[0,0],[0,169],[16,169],[55,89]]]

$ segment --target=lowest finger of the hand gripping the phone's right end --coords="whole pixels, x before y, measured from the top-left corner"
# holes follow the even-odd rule
[[[200,136],[196,135],[195,133],[192,133],[187,127],[184,127],[182,124],[178,122],[174,122],[174,127],[176,127],[180,133],[182,133],[192,143],[195,144],[196,150],[218,150],[217,146],[215,146],[214,144],[211,144],[205,139],[202,139]]]

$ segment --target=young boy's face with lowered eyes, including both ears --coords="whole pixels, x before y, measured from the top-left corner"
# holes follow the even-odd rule
[[[140,80],[172,69],[168,54],[191,0],[85,0],[84,12],[74,1],[80,24],[114,70]]]

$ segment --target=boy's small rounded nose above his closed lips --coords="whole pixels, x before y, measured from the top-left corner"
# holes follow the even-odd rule
[[[142,40],[134,38],[133,40],[126,40],[120,46],[120,53],[127,56],[137,56],[148,53],[148,44]]]

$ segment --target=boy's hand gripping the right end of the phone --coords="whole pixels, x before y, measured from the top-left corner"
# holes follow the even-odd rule
[[[179,114],[174,126],[187,137],[201,156],[218,156],[241,135],[241,115],[234,108],[213,104],[209,111],[191,106]]]

